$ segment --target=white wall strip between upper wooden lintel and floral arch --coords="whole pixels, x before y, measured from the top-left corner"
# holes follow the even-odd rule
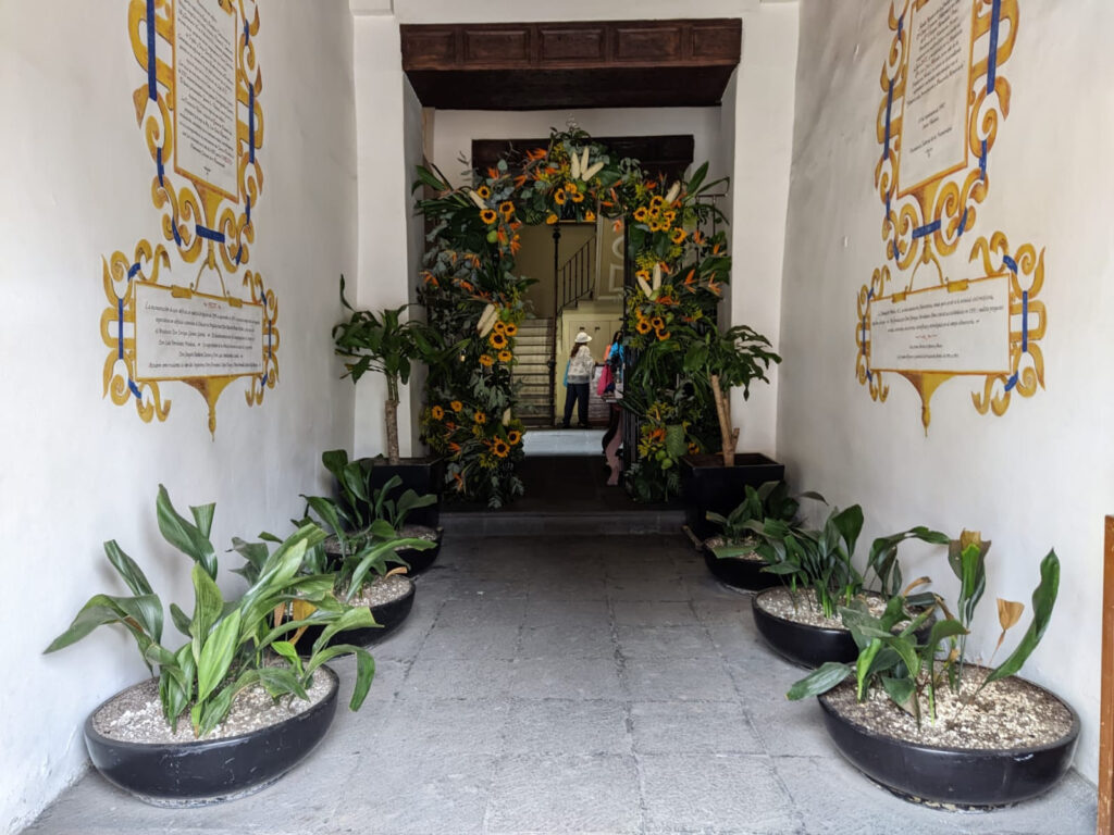
[[[575,124],[592,136],[692,134],[693,160],[711,163],[710,174],[730,174],[720,144],[717,107],[580,108],[568,110],[438,110],[433,161],[455,186],[469,183],[473,139],[543,139],[550,128]],[[460,157],[468,160],[460,163]]]

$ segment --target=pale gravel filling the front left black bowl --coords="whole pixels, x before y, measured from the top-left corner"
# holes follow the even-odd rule
[[[246,687],[233,699],[232,710],[225,720],[202,737],[202,740],[242,736],[285,721],[324,699],[329,695],[331,682],[332,678],[328,672],[315,674],[313,684],[306,691],[309,701],[296,696],[275,701],[260,685]],[[158,700],[157,678],[140,681],[108,701],[94,715],[92,727],[98,734],[121,743],[159,745],[197,741],[189,725],[188,709],[179,717],[177,731],[173,731],[167,725]]]

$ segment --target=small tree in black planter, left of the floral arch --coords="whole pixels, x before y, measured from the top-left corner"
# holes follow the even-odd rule
[[[383,402],[387,461],[374,463],[372,487],[382,487],[392,475],[398,475],[407,489],[436,495],[438,501],[423,511],[422,519],[423,523],[436,527],[444,484],[444,465],[440,459],[400,458],[398,411],[400,386],[409,382],[412,364],[419,360],[441,362],[446,347],[440,336],[422,323],[402,322],[402,314],[410,305],[378,313],[353,308],[344,296],[344,276],[341,276],[341,304],[351,315],[346,322],[333,327],[333,343],[336,353],[344,357],[344,375],[358,383],[365,373],[375,371],[387,381],[387,400]],[[371,462],[365,466],[371,466]]]

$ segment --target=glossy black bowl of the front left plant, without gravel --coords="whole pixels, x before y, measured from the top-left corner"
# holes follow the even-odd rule
[[[329,667],[320,669],[332,682],[324,699],[277,725],[227,739],[158,745],[109,739],[92,726],[101,705],[85,721],[89,758],[109,783],[154,806],[208,806],[253,794],[293,768],[329,730],[339,680]]]

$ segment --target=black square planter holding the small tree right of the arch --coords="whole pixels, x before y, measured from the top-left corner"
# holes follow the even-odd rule
[[[746,497],[747,487],[784,479],[785,465],[758,452],[735,453],[734,466],[724,466],[720,455],[683,455],[681,494],[685,524],[698,539],[707,539],[719,532],[707,521],[707,511],[727,515]]]

